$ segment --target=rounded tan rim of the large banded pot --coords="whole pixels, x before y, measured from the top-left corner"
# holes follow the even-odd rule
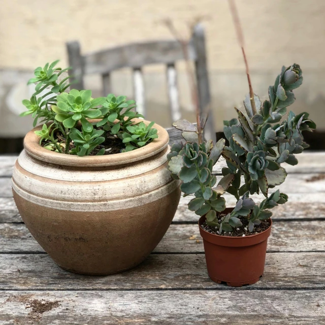
[[[90,122],[100,121],[101,119],[89,119]],[[150,121],[135,118],[135,122],[144,122],[146,125]],[[153,155],[156,155],[160,151],[163,151],[169,143],[169,135],[166,129],[159,124],[153,124],[153,127],[157,129],[157,139],[153,139],[149,144],[136,150],[115,153],[103,156],[84,156],[79,157],[77,155],[64,154],[59,152],[53,152],[43,148],[39,144],[39,137],[34,133],[42,128],[39,125],[29,131],[24,138],[24,149],[26,152],[38,159],[45,161],[46,163],[63,165],[63,166],[75,166],[75,167],[101,167],[101,166],[118,166],[135,161],[143,160]]]

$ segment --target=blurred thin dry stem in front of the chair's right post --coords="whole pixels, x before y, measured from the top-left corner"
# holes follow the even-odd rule
[[[170,30],[171,34],[175,37],[175,39],[180,43],[182,47],[182,52],[184,55],[184,60],[185,60],[185,66],[186,66],[186,74],[188,77],[189,81],[189,86],[190,86],[190,92],[192,96],[192,102],[194,104],[195,110],[196,110],[196,115],[197,115],[197,128],[198,128],[198,138],[199,138],[199,143],[203,142],[203,128],[201,125],[201,111],[200,111],[200,102],[199,102],[199,93],[198,93],[198,87],[196,84],[196,79],[194,75],[194,71],[191,66],[191,62],[189,60],[189,55],[188,55],[188,41],[185,40],[177,31],[175,28],[173,22],[170,19],[164,20],[165,25],[168,27]]]

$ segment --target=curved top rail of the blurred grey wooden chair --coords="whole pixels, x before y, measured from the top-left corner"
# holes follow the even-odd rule
[[[192,42],[188,45],[189,57],[196,59]],[[124,67],[138,68],[147,64],[168,64],[183,60],[178,41],[151,41],[122,45],[84,56],[86,74],[103,74]]]

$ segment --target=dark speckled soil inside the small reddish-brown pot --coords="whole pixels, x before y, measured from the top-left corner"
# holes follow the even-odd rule
[[[220,214],[219,218],[222,218],[223,216],[225,216],[225,214]],[[247,220],[246,218],[240,218],[240,221],[242,222],[242,225],[240,227],[234,228],[232,232],[222,232],[221,235],[218,233],[217,229],[215,229],[213,226],[208,225],[206,222],[204,222],[201,227],[208,233],[218,236],[245,237],[262,233],[266,231],[270,226],[267,220],[263,220],[260,224],[255,224],[253,231],[250,233],[248,231],[249,220]]]

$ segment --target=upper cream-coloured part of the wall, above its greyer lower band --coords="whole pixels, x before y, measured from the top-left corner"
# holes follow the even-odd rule
[[[324,68],[324,0],[237,0],[250,67],[273,70],[300,62]],[[186,23],[205,16],[210,69],[243,69],[226,0],[2,0],[0,68],[30,70],[46,61],[66,62],[64,43],[84,51],[127,42],[166,39],[159,21]]]

